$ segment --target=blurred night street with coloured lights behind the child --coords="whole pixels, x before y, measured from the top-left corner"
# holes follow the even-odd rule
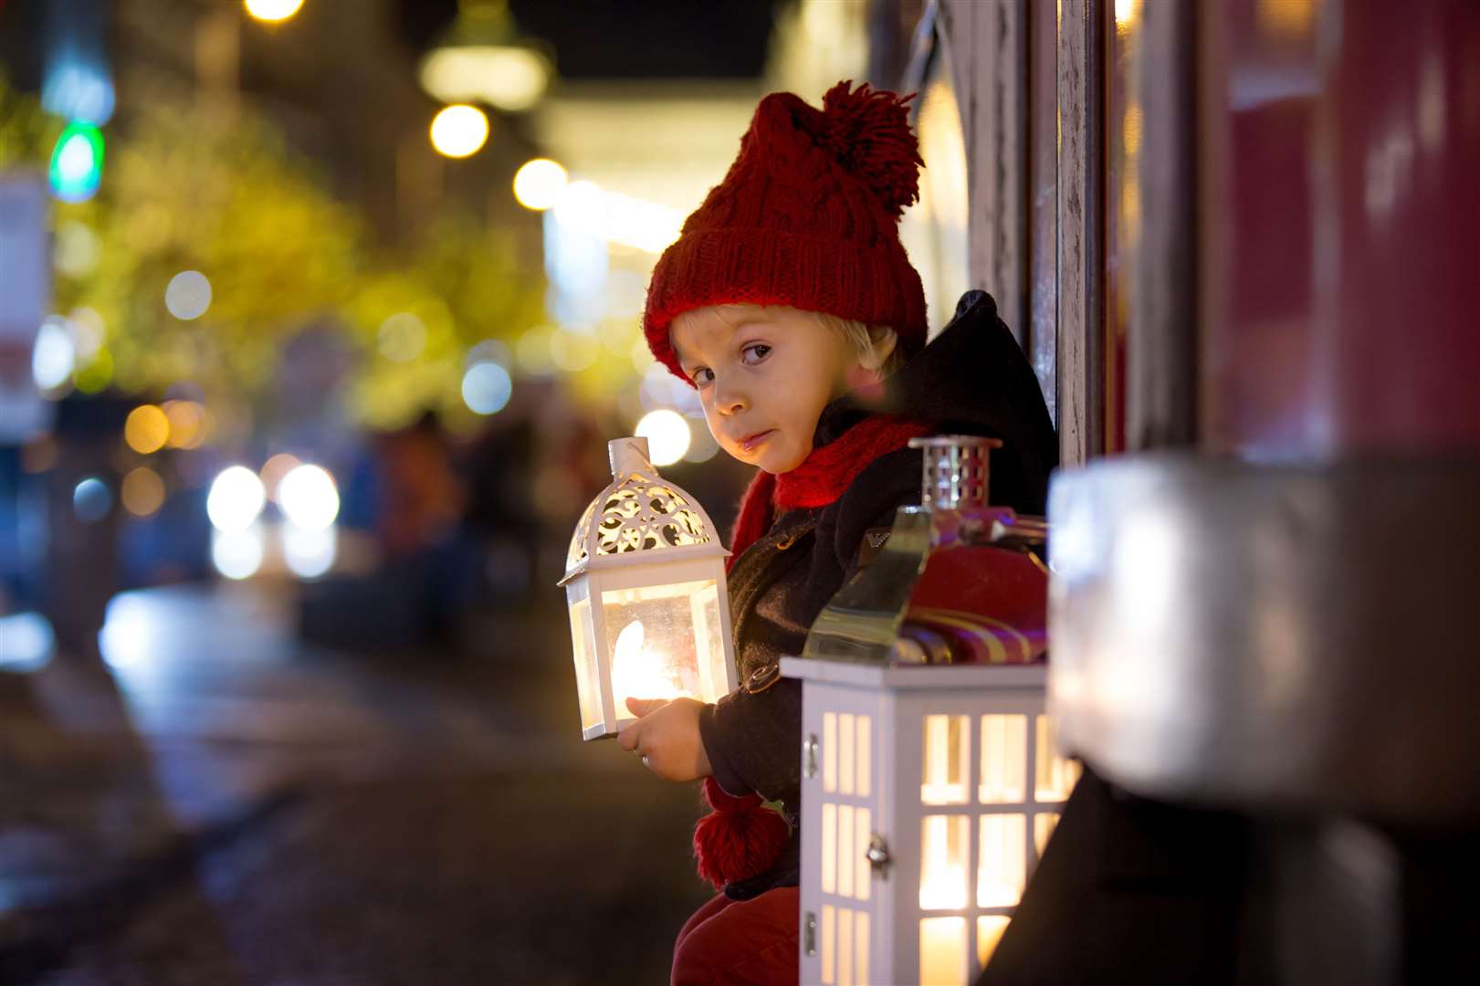
[[[919,7],[0,0],[0,983],[666,980],[555,582],[608,438],[728,527],[648,272]]]

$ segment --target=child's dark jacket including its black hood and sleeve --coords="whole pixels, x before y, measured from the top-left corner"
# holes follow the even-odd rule
[[[992,435],[993,503],[1042,514],[1048,474],[1058,462],[1054,426],[1037,378],[986,292],[968,292],[956,317],[885,386],[884,400],[863,406],[845,397],[829,404],[814,446],[824,446],[873,413],[931,422],[940,434]],[[730,611],[740,681],[783,654],[799,654],[823,606],[860,569],[870,529],[888,530],[894,511],[921,502],[921,453],[900,449],[869,465],[835,503],[793,509],[736,558]],[[802,687],[781,678],[764,691],[743,685],[700,717],[715,779],[731,794],[758,792],[784,805],[793,829],[787,854],[770,872],[731,884],[731,897],[796,885]]]

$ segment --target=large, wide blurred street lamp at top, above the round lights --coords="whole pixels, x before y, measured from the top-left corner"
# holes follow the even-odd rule
[[[443,102],[522,113],[545,95],[551,58],[518,34],[506,0],[459,0],[453,27],[422,59],[420,80]]]

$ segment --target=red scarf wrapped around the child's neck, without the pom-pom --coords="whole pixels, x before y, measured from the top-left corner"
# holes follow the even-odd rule
[[[875,459],[903,449],[910,438],[932,429],[916,420],[875,415],[845,431],[835,441],[813,449],[790,472],[771,474],[756,469],[740,500],[740,517],[730,536],[728,566],[771,527],[776,511],[799,506],[827,506],[852,484]]]

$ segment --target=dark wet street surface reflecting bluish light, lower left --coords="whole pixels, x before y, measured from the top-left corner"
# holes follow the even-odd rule
[[[697,788],[582,743],[558,610],[309,648],[269,583],[0,672],[0,983],[662,983]]]

